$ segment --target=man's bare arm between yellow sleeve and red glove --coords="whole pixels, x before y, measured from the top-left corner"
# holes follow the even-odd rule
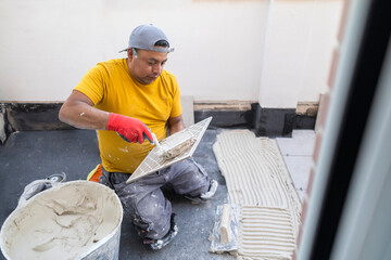
[[[74,90],[62,105],[59,119],[76,128],[105,130],[109,113],[94,108],[87,95]]]

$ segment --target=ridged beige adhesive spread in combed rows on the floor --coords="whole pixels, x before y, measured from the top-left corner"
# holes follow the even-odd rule
[[[240,206],[242,259],[291,259],[301,203],[277,142],[249,130],[217,135],[213,145],[230,204]]]

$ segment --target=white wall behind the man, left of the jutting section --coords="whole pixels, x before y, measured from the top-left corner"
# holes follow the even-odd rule
[[[94,64],[124,57],[153,23],[176,48],[166,69],[194,100],[253,100],[268,0],[1,0],[0,101],[64,101]]]

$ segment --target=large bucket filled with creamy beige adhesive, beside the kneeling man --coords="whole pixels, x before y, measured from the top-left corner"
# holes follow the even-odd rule
[[[118,259],[123,208],[109,187],[89,181],[58,183],[7,218],[0,247],[16,259]]]

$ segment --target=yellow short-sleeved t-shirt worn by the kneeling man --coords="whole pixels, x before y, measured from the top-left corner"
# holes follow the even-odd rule
[[[174,75],[163,70],[150,84],[141,84],[128,70],[126,58],[98,63],[76,86],[94,107],[144,122],[157,140],[167,136],[167,119],[181,115],[180,92]],[[105,170],[133,173],[152,145],[128,143],[116,132],[98,130],[99,150]]]

